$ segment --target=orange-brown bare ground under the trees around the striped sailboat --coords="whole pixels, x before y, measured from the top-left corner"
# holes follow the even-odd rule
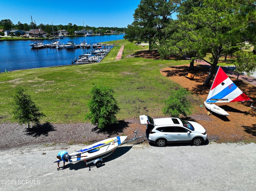
[[[230,102],[218,104],[230,115],[218,116],[207,115],[204,107],[210,87],[203,87],[209,68],[196,64],[194,71],[189,71],[189,65],[167,67],[160,70],[160,73],[168,79],[179,83],[183,88],[191,91],[198,100],[195,104],[195,111],[190,116],[196,122],[202,124],[207,131],[209,140],[216,142],[251,142],[256,140],[256,110],[250,107],[256,102],[255,86],[230,77],[232,81],[253,101],[252,102]],[[188,72],[195,75],[194,80],[188,79],[185,75]]]

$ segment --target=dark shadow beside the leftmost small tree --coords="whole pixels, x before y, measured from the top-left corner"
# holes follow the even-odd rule
[[[41,135],[48,136],[48,133],[51,131],[56,130],[54,129],[54,126],[52,126],[52,124],[46,122],[44,124],[33,125],[32,128],[27,128],[26,135],[32,135],[34,137],[39,137]]]

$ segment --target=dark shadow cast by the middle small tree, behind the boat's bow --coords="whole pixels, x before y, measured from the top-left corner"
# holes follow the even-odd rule
[[[116,124],[111,124],[103,129],[98,129],[98,126],[92,129],[92,131],[97,131],[97,133],[108,134],[109,137],[122,133],[125,128],[128,127],[130,122],[126,122],[124,120],[119,120]]]

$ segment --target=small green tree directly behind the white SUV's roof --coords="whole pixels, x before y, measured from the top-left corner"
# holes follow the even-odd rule
[[[166,106],[163,108],[163,114],[173,117],[179,117],[180,114],[188,116],[191,114],[190,102],[187,99],[189,92],[180,88],[178,90],[172,89],[170,96],[164,100]]]

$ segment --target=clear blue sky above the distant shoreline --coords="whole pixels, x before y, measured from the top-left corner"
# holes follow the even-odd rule
[[[134,21],[140,0],[0,0],[0,20],[39,24],[124,28]]]

